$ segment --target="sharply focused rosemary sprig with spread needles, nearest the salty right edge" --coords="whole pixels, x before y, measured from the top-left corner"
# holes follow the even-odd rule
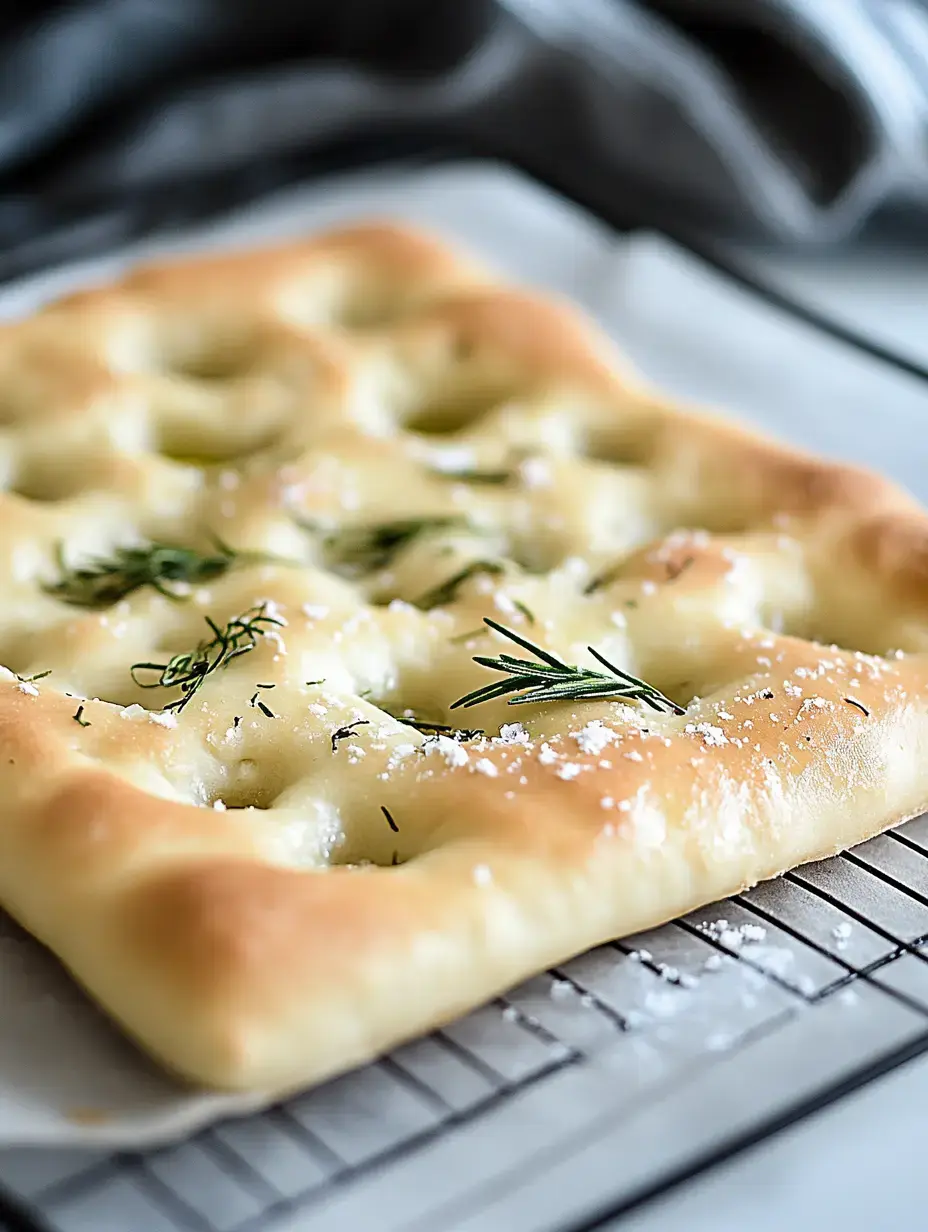
[[[488,616],[484,616],[484,623],[497,633],[502,633],[503,637],[508,637],[510,642],[515,642],[516,646],[521,646],[523,649],[529,650],[539,662],[532,663],[529,659],[516,659],[511,654],[500,654],[493,659],[487,655],[476,654],[473,657],[474,663],[479,663],[482,668],[492,668],[494,671],[502,671],[509,679],[498,680],[495,684],[484,685],[482,689],[474,689],[467,696],[460,697],[451,706],[451,710],[457,710],[458,706],[478,706],[481,702],[494,701],[497,697],[504,697],[507,694],[518,694],[519,696],[509,699],[508,705],[520,706],[530,702],[590,701],[595,697],[621,697],[625,701],[643,701],[646,706],[656,711],[668,710],[674,715],[684,713],[683,707],[670,701],[669,697],[665,697],[653,685],[647,684],[645,680],[638,680],[637,676],[629,675],[621,668],[616,668],[598,650],[594,650],[592,646],[588,647],[589,653],[603,667],[608,668],[611,675],[606,675],[604,671],[595,671],[592,668],[578,668],[568,663],[562,663],[557,655],[551,654],[540,646],[535,646],[534,642],[529,642],[511,630],[504,628]]]

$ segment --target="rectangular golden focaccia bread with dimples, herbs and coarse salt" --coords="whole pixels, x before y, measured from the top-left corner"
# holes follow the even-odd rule
[[[928,804],[921,506],[429,237],[54,303],[0,425],[0,904],[186,1079],[311,1084]]]

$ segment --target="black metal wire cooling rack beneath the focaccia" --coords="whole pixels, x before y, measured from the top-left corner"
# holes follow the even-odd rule
[[[0,1228],[585,1232],[926,1050],[918,818],[179,1146],[2,1151]]]

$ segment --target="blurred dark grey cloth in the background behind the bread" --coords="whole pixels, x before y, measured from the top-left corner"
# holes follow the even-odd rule
[[[922,246],[924,0],[6,0],[0,277],[335,168],[509,160],[619,227]]]

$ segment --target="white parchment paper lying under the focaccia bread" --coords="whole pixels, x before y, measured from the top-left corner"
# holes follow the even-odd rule
[[[928,496],[922,386],[811,338],[657,239],[616,241],[513,172],[470,166],[352,177],[324,192],[288,193],[213,228],[208,240],[250,241],[372,213],[425,223],[510,276],[577,298],[670,393],[717,403],[824,453],[877,466]],[[6,310],[107,276],[124,259],[18,286],[5,298]],[[228,1101],[182,1094],[138,1061],[28,942],[0,945],[0,982],[9,1007],[0,1015],[0,1145],[143,1145],[229,1109]],[[711,1005],[704,1013],[711,1018]],[[726,1013],[720,1004],[720,1030]],[[479,1034],[478,1025],[473,1030]],[[75,1124],[75,1109],[99,1110],[106,1120]]]

